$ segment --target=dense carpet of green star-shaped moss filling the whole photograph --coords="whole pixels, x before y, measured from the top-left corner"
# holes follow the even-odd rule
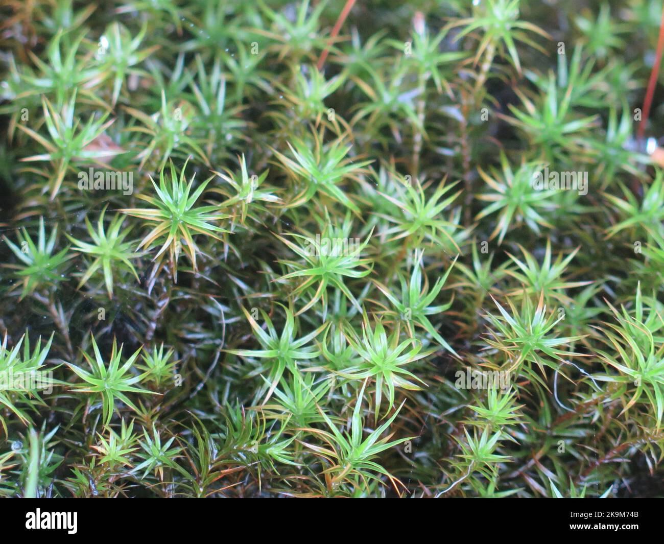
[[[661,6],[344,5],[2,8],[0,496],[661,493]]]

